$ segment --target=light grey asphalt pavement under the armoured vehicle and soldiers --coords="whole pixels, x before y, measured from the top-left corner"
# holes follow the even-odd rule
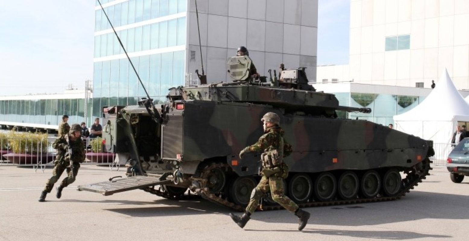
[[[303,232],[288,211],[259,211],[244,227],[231,210],[200,198],[176,201],[142,190],[102,196],[76,186],[124,175],[82,165],[62,198],[38,198],[52,169],[0,165],[0,241],[12,240],[466,240],[469,177],[451,182],[444,166],[401,200],[315,207]],[[63,177],[62,177],[63,178]]]

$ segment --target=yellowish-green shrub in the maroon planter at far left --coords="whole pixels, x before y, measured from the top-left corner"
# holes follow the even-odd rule
[[[13,153],[36,154],[47,152],[47,134],[8,132],[9,148]]]

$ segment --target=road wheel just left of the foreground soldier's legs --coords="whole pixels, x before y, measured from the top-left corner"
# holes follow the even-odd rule
[[[249,203],[252,189],[256,187],[256,180],[253,177],[237,177],[229,188],[231,202],[246,206]]]

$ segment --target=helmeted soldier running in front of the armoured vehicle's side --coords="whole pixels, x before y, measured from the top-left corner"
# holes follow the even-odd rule
[[[286,210],[294,212],[299,218],[298,230],[301,231],[308,223],[310,213],[300,209],[296,203],[285,196],[283,187],[283,180],[288,176],[288,166],[283,162],[283,158],[290,155],[292,146],[283,139],[284,131],[280,128],[280,117],[276,113],[266,113],[261,120],[264,121],[265,134],[259,138],[257,143],[244,148],[239,156],[242,158],[248,152],[264,151],[261,155],[262,178],[257,187],[252,190],[246,212],[242,216],[230,213],[230,217],[238,226],[244,227],[249,221],[250,215],[256,210],[261,197],[270,191],[275,202]]]

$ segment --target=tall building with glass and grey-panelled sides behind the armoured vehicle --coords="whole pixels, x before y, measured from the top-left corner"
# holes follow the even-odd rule
[[[231,81],[225,64],[239,46],[249,49],[261,75],[284,63],[307,67],[315,81],[318,0],[197,0],[199,24],[194,0],[101,3],[155,101],[197,79],[202,60],[209,83]],[[146,97],[98,1],[94,42],[93,116],[101,106],[135,105]]]

